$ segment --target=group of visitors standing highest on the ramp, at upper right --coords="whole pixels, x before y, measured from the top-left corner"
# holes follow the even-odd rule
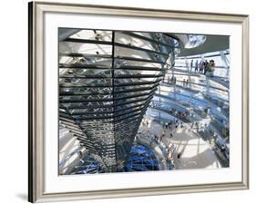
[[[215,70],[215,62],[214,60],[201,60],[199,63],[199,60],[196,61],[194,64],[194,61],[190,61],[190,72],[192,72],[192,69],[195,68],[195,73],[214,73]]]

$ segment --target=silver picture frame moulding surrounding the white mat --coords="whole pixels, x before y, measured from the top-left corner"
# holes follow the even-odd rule
[[[75,5],[30,2],[28,5],[29,40],[29,134],[28,134],[28,201],[57,201],[75,199],[104,199],[163,195],[174,193],[206,192],[249,189],[249,16],[212,14],[189,11],[155,10],[106,5]],[[242,26],[242,165],[240,182],[189,186],[163,186],[136,189],[108,189],[94,191],[46,193],[44,190],[44,13],[73,13],[91,15],[143,16],[159,19],[197,20],[216,23],[236,23]]]

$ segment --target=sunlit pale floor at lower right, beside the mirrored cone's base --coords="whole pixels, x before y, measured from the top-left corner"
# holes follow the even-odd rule
[[[169,156],[172,158],[176,170],[189,169],[216,169],[220,168],[220,162],[214,151],[211,150],[210,143],[203,141],[200,136],[187,130],[186,128],[174,127],[165,129],[158,122],[149,121],[147,127],[142,127],[149,134],[157,136],[165,133],[160,142],[164,143],[169,149]],[[170,137],[172,131],[173,137]],[[180,158],[178,159],[178,154]]]

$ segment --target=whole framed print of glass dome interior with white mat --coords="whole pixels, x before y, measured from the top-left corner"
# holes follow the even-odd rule
[[[29,201],[248,189],[248,29],[29,3]]]

